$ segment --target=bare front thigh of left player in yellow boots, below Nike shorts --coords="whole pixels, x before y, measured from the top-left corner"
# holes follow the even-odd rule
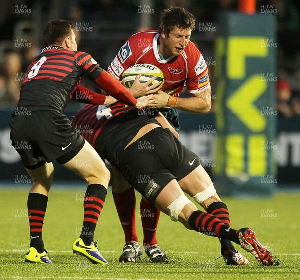
[[[83,148],[63,166],[76,172],[89,184],[108,187],[110,173],[95,149],[85,141]]]

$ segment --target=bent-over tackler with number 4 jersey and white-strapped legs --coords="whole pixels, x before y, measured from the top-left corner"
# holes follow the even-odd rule
[[[205,235],[240,244],[265,266],[278,265],[251,229],[231,228],[227,207],[217,195],[200,158],[168,128],[162,128],[161,123],[169,126],[168,122],[163,121],[160,112],[152,110],[140,114],[120,102],[110,107],[88,105],[75,115],[72,124],[88,126],[89,133],[82,136],[101,158],[115,166],[131,186],[171,220]],[[145,148],[142,143],[149,145]],[[207,212],[198,210],[184,192]],[[239,252],[234,260],[238,265],[249,263]]]

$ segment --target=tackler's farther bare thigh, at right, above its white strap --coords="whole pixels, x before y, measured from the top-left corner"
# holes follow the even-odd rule
[[[202,165],[199,165],[188,175],[178,181],[182,190],[190,196],[194,196],[199,192],[204,191],[212,184],[211,178],[205,171]]]

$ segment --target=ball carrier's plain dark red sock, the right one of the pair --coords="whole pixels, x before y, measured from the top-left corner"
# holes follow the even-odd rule
[[[156,229],[160,210],[142,198],[140,201],[139,211],[144,234],[143,246],[151,247],[158,244],[156,239]]]

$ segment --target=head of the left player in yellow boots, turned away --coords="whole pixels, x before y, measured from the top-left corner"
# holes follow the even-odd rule
[[[65,19],[55,19],[48,22],[44,32],[43,40],[45,46],[63,46],[69,50],[77,50],[75,25]]]

